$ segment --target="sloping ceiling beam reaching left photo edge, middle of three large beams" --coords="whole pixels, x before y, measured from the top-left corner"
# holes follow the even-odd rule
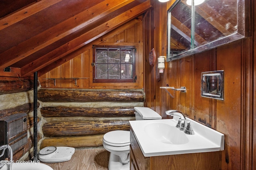
[[[26,40],[0,54],[1,62],[0,69],[8,67],[29,55],[32,55],[36,51],[39,51],[62,38],[97,22],[102,17],[111,14],[115,10],[126,6],[127,4],[134,2],[135,0],[107,0],[93,6],[92,8],[81,12],[80,14],[65,20],[64,22],[34,36],[33,38]],[[100,9],[100,10],[99,10]],[[75,27],[74,27],[75,26]],[[57,30],[57,31],[56,31]]]

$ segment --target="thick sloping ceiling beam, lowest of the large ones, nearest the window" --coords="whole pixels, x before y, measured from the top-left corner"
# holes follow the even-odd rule
[[[139,4],[138,6],[135,6],[134,8],[131,8],[126,12],[120,14],[119,16],[112,18],[107,22],[104,22],[100,26],[95,27],[92,30],[89,30],[82,36],[79,36],[71,40],[70,42],[65,43],[61,47],[51,51],[50,53],[47,53],[46,55],[40,57],[39,59],[36,59],[32,63],[29,63],[22,67],[22,77],[26,77],[27,75],[30,75],[31,73],[34,73],[35,71],[38,71],[46,67],[50,63],[53,63],[54,61],[64,57],[65,55],[68,55],[69,53],[72,53],[80,47],[96,40],[100,36],[103,36],[104,34],[114,30],[115,28],[124,24],[125,22],[128,22],[132,18],[146,12],[146,10],[148,10],[150,7],[150,1],[145,1]]]

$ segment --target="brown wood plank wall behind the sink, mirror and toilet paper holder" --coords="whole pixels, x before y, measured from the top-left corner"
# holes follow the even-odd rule
[[[151,67],[147,56],[152,48],[156,50],[157,57],[166,55],[166,11],[173,1],[151,2],[151,11],[154,12],[146,14],[144,20],[147,28],[144,30],[145,76],[148,77],[145,79],[146,106],[164,118],[169,118],[164,113],[166,110],[178,109],[187,117],[222,132],[225,135],[222,169],[253,169],[253,37],[166,63],[159,78],[157,65]],[[214,70],[224,70],[224,101],[200,95],[201,72]],[[187,91],[170,91],[172,98],[160,89],[161,86],[185,86]]]

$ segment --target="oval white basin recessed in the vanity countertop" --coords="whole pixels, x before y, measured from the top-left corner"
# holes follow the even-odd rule
[[[188,138],[184,132],[166,123],[149,123],[144,127],[148,136],[154,140],[167,144],[186,144]]]

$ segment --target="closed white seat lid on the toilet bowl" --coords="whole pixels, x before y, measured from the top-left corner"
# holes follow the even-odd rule
[[[130,131],[114,130],[104,134],[103,139],[111,144],[128,144],[130,143]]]

